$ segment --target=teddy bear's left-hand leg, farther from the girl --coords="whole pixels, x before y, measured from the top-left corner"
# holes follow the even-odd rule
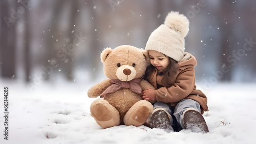
[[[91,104],[90,110],[91,116],[102,128],[120,125],[119,112],[108,101],[103,99],[95,100]]]

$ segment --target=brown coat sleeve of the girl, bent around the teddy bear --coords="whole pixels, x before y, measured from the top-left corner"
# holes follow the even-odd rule
[[[186,98],[193,91],[195,80],[194,68],[182,70],[171,87],[162,87],[156,90],[157,101],[173,103]]]

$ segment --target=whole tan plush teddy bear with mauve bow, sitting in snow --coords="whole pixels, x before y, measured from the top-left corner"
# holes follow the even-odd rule
[[[88,97],[97,99],[90,106],[91,116],[102,128],[119,125],[141,126],[153,111],[151,102],[142,99],[142,91],[154,89],[142,79],[150,65],[148,53],[134,46],[105,48],[101,53],[104,75],[108,79],[88,90]]]

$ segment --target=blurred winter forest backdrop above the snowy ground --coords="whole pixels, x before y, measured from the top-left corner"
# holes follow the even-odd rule
[[[144,48],[170,11],[190,21],[185,51],[196,56],[206,90],[217,81],[256,82],[256,1],[3,0],[0,7],[1,79],[31,89],[94,81],[105,47]]]

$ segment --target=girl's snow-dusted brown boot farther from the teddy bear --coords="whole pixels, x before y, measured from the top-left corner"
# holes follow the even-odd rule
[[[202,114],[194,109],[188,108],[183,112],[183,124],[186,129],[193,132],[209,132],[207,124]]]

